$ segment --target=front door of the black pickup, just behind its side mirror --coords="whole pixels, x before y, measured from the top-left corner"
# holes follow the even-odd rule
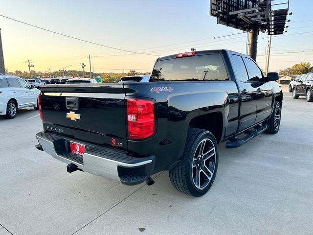
[[[253,86],[257,89],[256,120],[258,123],[266,119],[272,110],[272,86],[264,81],[264,76],[256,63],[248,57],[245,57],[246,67],[249,73],[249,81],[253,81]]]

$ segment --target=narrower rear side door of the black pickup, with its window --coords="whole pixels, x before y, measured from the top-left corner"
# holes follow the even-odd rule
[[[257,87],[255,82],[249,81],[243,58],[240,55],[232,54],[232,61],[236,80],[240,89],[240,131],[253,126],[256,119]]]

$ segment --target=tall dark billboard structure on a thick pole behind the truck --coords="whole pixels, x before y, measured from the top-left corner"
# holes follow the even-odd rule
[[[285,32],[289,0],[210,0],[210,15],[217,24],[250,32],[249,56],[256,60],[259,32],[278,35]]]

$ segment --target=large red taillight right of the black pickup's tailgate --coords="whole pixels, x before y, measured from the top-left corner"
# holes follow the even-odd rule
[[[146,99],[127,99],[128,137],[140,140],[155,133],[154,102]]]

